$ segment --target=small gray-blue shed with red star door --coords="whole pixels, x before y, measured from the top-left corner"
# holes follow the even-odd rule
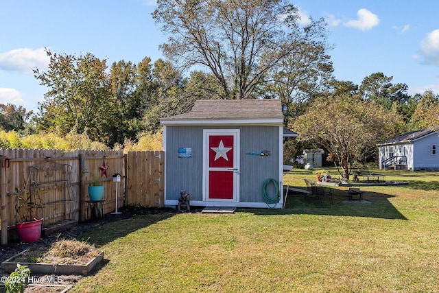
[[[198,100],[161,124],[165,205],[176,206],[185,190],[191,206],[282,207],[279,99]]]

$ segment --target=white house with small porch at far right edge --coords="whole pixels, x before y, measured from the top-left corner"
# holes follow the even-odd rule
[[[380,169],[439,171],[439,132],[418,130],[378,144]]]

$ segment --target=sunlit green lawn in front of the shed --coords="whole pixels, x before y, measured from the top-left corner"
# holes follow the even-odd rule
[[[286,209],[141,215],[82,235],[106,263],[71,292],[439,292],[438,173],[386,171],[370,204],[288,197]],[[285,183],[304,187],[298,170]]]

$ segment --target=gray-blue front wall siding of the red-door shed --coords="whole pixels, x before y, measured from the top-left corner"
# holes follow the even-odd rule
[[[239,202],[263,202],[261,189],[268,178],[279,178],[279,127],[167,126],[165,198],[177,200],[185,189],[191,201],[202,201],[203,130],[239,129]],[[191,148],[191,158],[178,158],[178,148]],[[246,153],[269,150],[270,156]]]

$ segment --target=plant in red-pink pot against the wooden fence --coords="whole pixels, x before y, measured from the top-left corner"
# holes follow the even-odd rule
[[[37,210],[43,211],[41,198],[38,193],[29,192],[26,194],[19,187],[15,187],[12,194],[15,196],[15,211],[18,223],[15,229],[22,242],[34,242],[41,237],[41,228],[43,227],[43,217],[37,218]]]

